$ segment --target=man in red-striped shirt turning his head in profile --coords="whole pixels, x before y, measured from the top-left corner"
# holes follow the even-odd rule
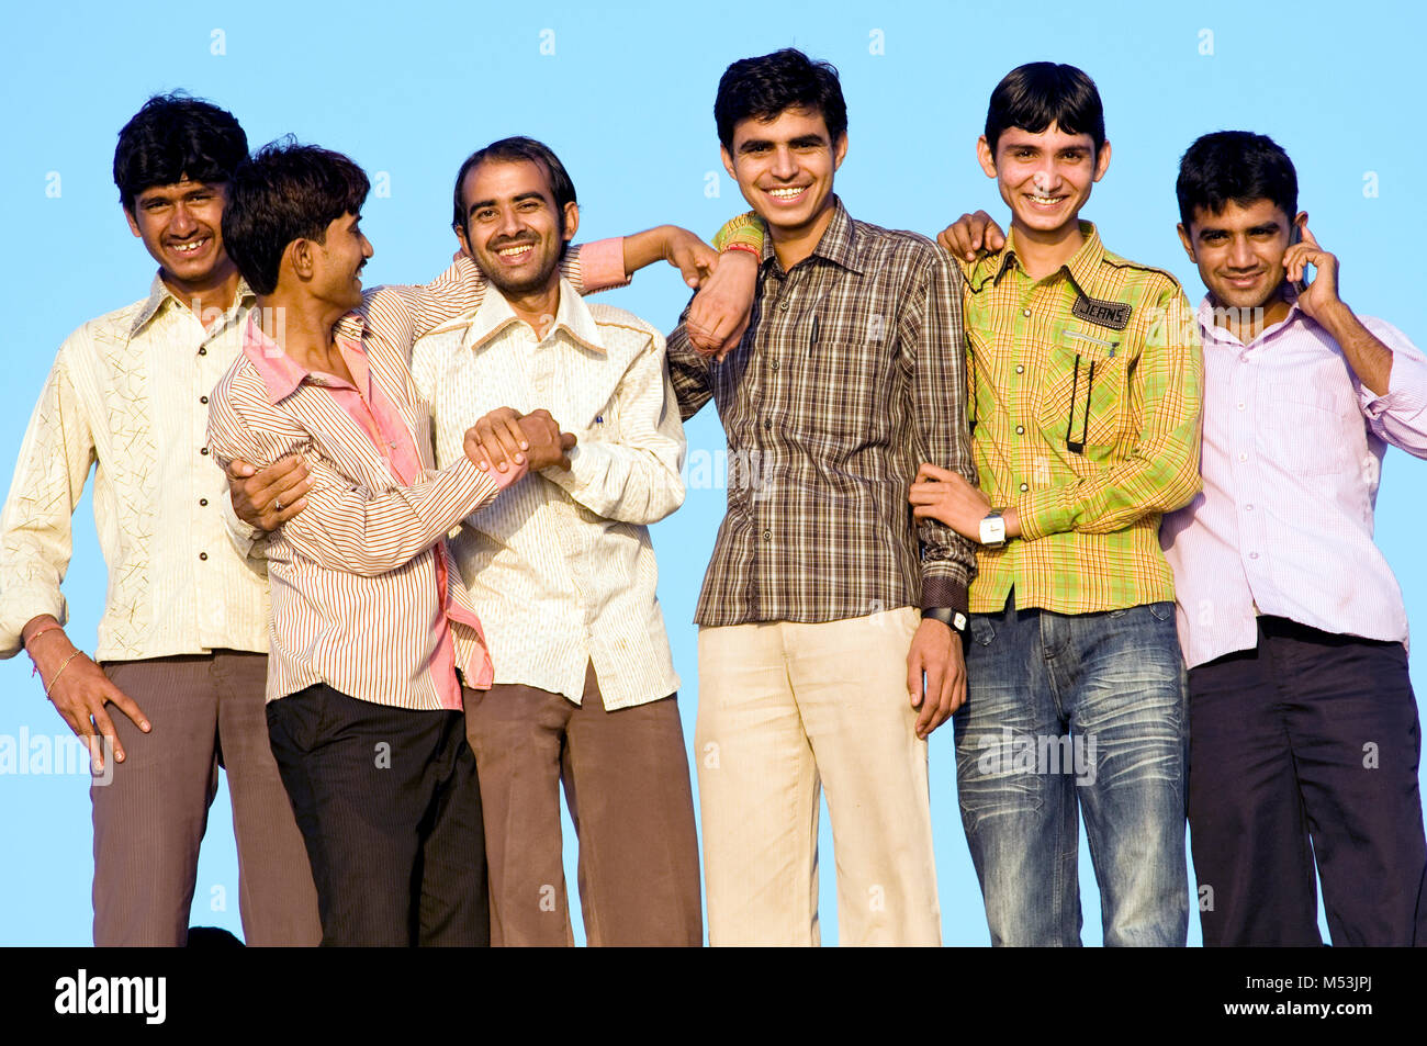
[[[522,420],[509,474],[462,458],[437,471],[407,355],[471,305],[468,261],[422,294],[364,303],[365,174],[315,147],[270,146],[234,174],[230,255],[257,293],[243,355],[214,390],[220,462],[301,454],[305,509],[267,545],[273,595],[267,719],[307,843],[324,945],[489,940],[475,763],[462,684],[491,661],[444,538],[527,467],[568,450]],[[358,310],[355,311],[354,310]],[[459,678],[458,678],[459,674]]]

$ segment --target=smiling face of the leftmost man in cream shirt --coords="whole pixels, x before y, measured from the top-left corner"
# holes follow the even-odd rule
[[[210,285],[228,264],[223,250],[224,184],[190,181],[153,186],[124,210],[128,227],[178,291]]]

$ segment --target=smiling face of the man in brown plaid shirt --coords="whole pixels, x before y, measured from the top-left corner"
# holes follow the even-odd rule
[[[785,108],[772,120],[741,120],[723,167],[773,237],[821,235],[832,215],[832,178],[848,154],[833,143],[821,113]]]

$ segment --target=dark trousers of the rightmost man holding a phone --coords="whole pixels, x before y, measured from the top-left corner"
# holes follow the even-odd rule
[[[1427,946],[1421,735],[1401,644],[1259,619],[1189,672],[1189,823],[1204,945]]]

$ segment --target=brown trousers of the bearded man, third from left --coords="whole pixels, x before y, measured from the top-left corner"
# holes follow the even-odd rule
[[[571,945],[559,785],[579,836],[591,945],[704,942],[699,850],[675,696],[605,711],[594,665],[581,704],[502,684],[468,699],[491,875],[491,943]]]

